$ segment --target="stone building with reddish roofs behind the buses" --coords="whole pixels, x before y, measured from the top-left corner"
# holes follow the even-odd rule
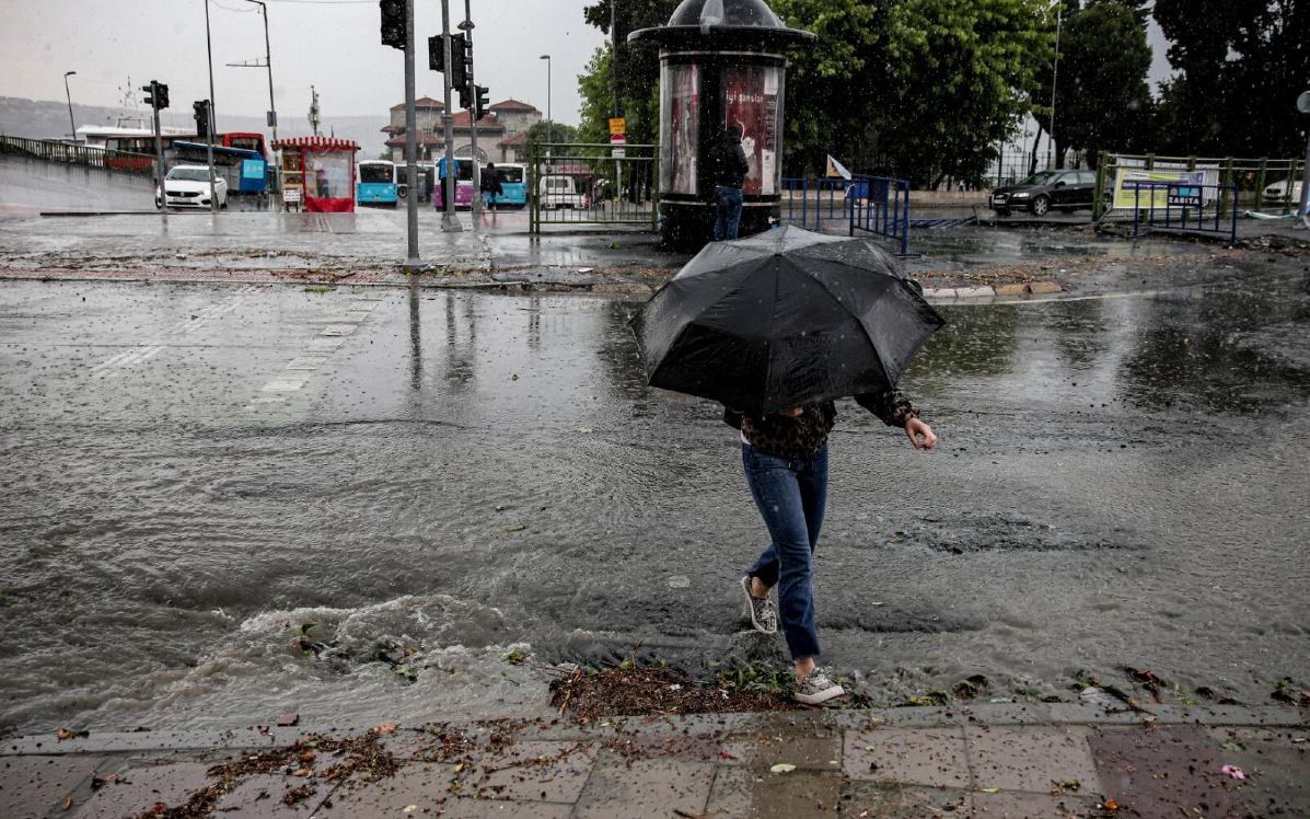
[[[431,97],[414,101],[414,119],[418,126],[418,160],[431,162],[445,155],[445,105]],[[392,119],[383,128],[392,161],[405,161],[405,104],[392,106]],[[469,111],[455,114],[455,156],[470,156],[472,128]],[[496,102],[487,115],[478,121],[478,159],[483,162],[527,161],[528,128],[541,122],[541,111],[517,100]]]

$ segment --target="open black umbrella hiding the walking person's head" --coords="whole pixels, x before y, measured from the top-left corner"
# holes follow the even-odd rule
[[[943,324],[878,245],[798,228],[706,246],[633,318],[651,387],[753,417],[895,387]]]

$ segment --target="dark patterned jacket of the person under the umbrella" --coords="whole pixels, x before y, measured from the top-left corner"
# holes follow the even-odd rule
[[[903,427],[910,418],[918,418],[918,408],[899,389],[884,389],[855,396],[855,402],[892,427]],[[795,418],[777,413],[764,418],[751,418],[731,408],[723,408],[723,422],[741,434],[752,447],[787,460],[808,460],[828,443],[828,434],[837,423],[837,408],[832,401],[800,408]]]

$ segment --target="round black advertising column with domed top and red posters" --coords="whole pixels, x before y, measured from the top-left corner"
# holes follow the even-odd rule
[[[694,249],[714,233],[710,149],[728,126],[741,131],[749,170],[740,236],[781,215],[782,105],[787,50],[814,43],[786,28],[764,0],[683,0],[668,25],[630,43],[658,43],[660,62],[659,212],[664,242]]]

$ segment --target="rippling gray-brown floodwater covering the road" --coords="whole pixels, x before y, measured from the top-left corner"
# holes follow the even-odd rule
[[[0,730],[504,713],[544,698],[512,647],[757,651],[736,432],[645,387],[638,307],[5,283]],[[937,451],[838,406],[825,663],[879,701],[1310,677],[1310,276],[943,313],[903,381]]]

